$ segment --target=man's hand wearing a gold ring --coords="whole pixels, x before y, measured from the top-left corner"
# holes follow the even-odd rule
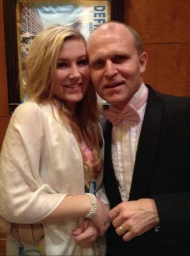
[[[143,198],[122,202],[110,211],[115,231],[130,241],[159,224],[159,216],[153,199]]]

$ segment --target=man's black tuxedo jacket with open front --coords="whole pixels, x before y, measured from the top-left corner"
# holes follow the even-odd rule
[[[124,242],[113,226],[107,255],[190,255],[190,98],[164,95],[149,85],[129,200],[154,198],[160,232]],[[111,156],[112,124],[104,127],[104,188],[110,207],[122,202]]]

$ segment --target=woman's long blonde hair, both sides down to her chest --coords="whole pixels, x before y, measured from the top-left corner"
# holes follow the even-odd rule
[[[62,119],[65,119],[77,136],[81,135],[92,149],[95,166],[102,164],[102,137],[98,125],[99,108],[96,93],[90,84],[83,99],[76,103],[76,116],[79,124],[72,121],[72,113],[64,101],[56,98],[54,87],[57,72],[57,59],[64,42],[71,39],[82,40],[83,35],[70,26],[55,24],[41,31],[33,40],[26,59],[26,94],[37,102],[49,101],[58,107]],[[58,104],[57,104],[58,103]]]

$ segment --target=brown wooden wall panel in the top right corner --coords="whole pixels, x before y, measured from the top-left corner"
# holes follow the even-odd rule
[[[143,42],[190,42],[190,0],[125,0],[125,22]]]

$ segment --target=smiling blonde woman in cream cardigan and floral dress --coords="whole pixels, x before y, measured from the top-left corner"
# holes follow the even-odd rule
[[[48,256],[94,255],[92,242],[110,219],[94,196],[103,141],[85,39],[62,25],[43,30],[26,71],[29,99],[15,109],[0,154],[0,214],[13,223],[42,223]],[[76,239],[81,234],[72,231],[84,219]],[[40,255],[42,245],[7,237],[8,255]]]

